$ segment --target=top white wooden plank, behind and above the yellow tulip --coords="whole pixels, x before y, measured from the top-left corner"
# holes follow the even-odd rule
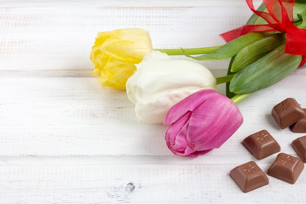
[[[1,1],[0,70],[92,69],[89,53],[96,33],[127,27],[147,29],[154,48],[222,45],[219,34],[251,15],[243,1],[126,2]],[[228,64],[219,63],[205,65]]]

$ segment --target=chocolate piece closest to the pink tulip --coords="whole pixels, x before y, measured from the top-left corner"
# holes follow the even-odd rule
[[[281,151],[280,145],[266,130],[244,138],[242,144],[258,160]]]

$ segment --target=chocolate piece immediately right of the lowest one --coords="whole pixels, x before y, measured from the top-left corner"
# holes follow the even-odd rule
[[[303,169],[304,163],[301,159],[280,153],[268,168],[267,174],[282,181],[294,184]]]

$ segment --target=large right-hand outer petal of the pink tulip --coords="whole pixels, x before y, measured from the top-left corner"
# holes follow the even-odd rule
[[[218,104],[218,105],[217,105]],[[190,118],[187,140],[191,148],[201,151],[219,148],[243,122],[237,105],[223,95],[210,97]]]

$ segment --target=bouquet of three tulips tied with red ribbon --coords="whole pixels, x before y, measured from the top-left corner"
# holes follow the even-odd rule
[[[179,156],[197,157],[219,148],[243,122],[236,105],[306,62],[306,0],[263,0],[246,25],[221,35],[222,46],[153,49],[139,28],[100,32],[92,46],[93,75],[103,87],[126,90],[138,118],[168,126],[166,142]],[[192,56],[197,54],[197,56]],[[231,58],[216,78],[195,60]],[[214,91],[227,83],[226,96]]]

